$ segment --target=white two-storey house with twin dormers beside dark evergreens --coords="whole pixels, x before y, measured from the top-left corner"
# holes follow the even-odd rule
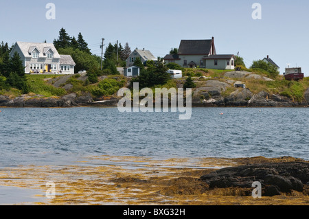
[[[16,42],[10,56],[19,53],[25,73],[73,74],[76,63],[69,55],[59,55],[52,43]]]

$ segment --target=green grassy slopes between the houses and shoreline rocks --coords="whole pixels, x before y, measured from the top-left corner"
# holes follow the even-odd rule
[[[244,68],[242,68],[244,69]],[[260,76],[268,77],[264,71],[257,69],[244,69],[246,71],[258,74]],[[253,78],[227,78],[225,73],[232,70],[217,70],[217,69],[183,69],[183,78],[170,80],[164,85],[156,88],[182,87],[185,78],[192,77],[196,82],[196,87],[203,87],[207,80],[219,80],[227,82],[227,80],[240,80],[244,82],[252,93],[260,93],[266,91],[269,94],[283,95],[289,97],[295,102],[303,102],[305,100],[304,93],[309,87],[309,78],[304,78],[300,81],[288,81],[284,76],[277,76],[273,78],[274,81],[265,81]],[[203,77],[202,77],[203,76]],[[117,91],[126,87],[129,84],[128,78],[124,76],[101,76],[98,82],[91,84],[87,76],[80,76],[79,74],[73,76],[59,76],[59,75],[27,75],[27,85],[29,87],[30,95],[43,95],[44,97],[62,96],[69,93],[91,93],[93,97],[111,97],[117,94]],[[67,77],[67,78],[65,78]],[[65,78],[65,80],[63,80]],[[62,79],[62,83],[56,86],[56,81]],[[155,87],[152,87],[155,93]],[[223,96],[230,95],[236,91],[234,87],[228,87],[227,91],[223,92]],[[0,95],[7,95],[11,98],[22,95],[21,91],[11,88],[0,90]]]

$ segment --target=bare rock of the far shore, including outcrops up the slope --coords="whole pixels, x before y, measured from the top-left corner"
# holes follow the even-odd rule
[[[69,91],[72,84],[65,84],[71,76],[47,80],[54,87],[62,87]],[[106,77],[102,77],[104,79]],[[204,80],[194,78],[198,84],[193,89],[192,106],[194,107],[307,107],[309,105],[309,88],[304,93],[303,102],[295,102],[283,95],[275,95],[266,91],[253,93],[247,88],[238,88],[236,91],[226,94],[228,89],[244,84],[241,80],[262,80],[274,81],[255,73],[247,71],[229,71],[224,78],[218,80],[214,78]],[[87,75],[83,74],[78,80],[87,80]],[[176,82],[177,88],[183,87],[184,80]],[[65,84],[65,85],[63,85]],[[91,93],[70,93],[62,97],[44,97],[43,95],[21,95],[20,97],[10,98],[0,95],[0,107],[77,107],[77,106],[117,106],[122,97],[99,97],[93,98]]]

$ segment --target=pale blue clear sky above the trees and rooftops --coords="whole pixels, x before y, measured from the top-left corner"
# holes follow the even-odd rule
[[[47,3],[55,19],[47,19]],[[260,3],[261,19],[253,19]],[[247,67],[267,55],[280,67],[301,67],[309,76],[308,0],[0,0],[0,42],[52,43],[63,27],[82,33],[93,54],[117,41],[164,57],[183,39],[211,39],[217,54],[235,54]]]

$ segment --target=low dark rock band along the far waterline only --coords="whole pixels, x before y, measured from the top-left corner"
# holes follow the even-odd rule
[[[212,94],[212,95],[211,95]],[[308,92],[309,94],[309,92]],[[309,95],[308,97],[309,102]],[[62,97],[44,97],[42,95],[21,95],[10,98],[0,95],[0,107],[16,108],[58,108],[78,106],[117,106],[120,98],[102,97],[93,100],[90,93],[76,95],[71,93]],[[216,91],[196,89],[192,97],[194,107],[307,107],[308,102],[293,102],[288,97],[270,95],[265,91],[253,94],[249,89],[238,89],[227,97],[222,97]]]

